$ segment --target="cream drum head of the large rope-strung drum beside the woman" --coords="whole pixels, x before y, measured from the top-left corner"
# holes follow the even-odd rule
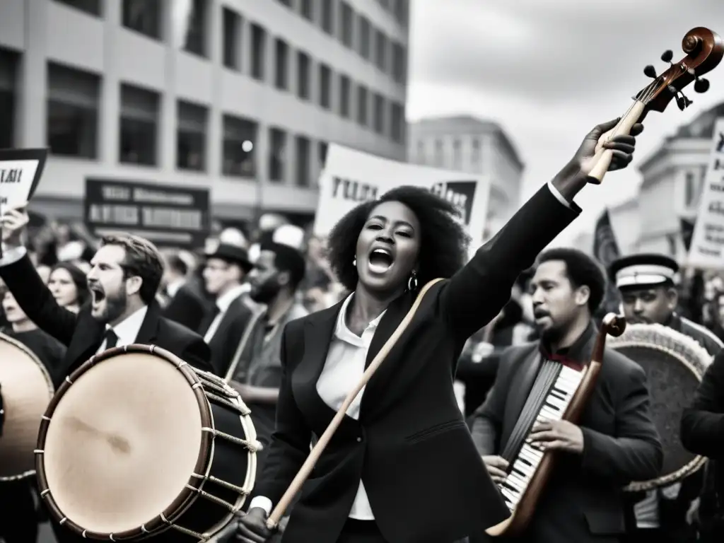
[[[74,378],[43,446],[64,516],[101,534],[138,529],[177,500],[201,452],[199,400],[179,361],[111,355]]]

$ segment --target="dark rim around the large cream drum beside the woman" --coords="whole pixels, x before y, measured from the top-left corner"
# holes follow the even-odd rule
[[[198,460],[194,466],[193,473],[207,475],[211,466],[211,459],[213,458],[213,439],[214,433],[205,431],[204,429],[214,429],[214,418],[211,414],[211,407],[209,402],[206,400],[206,395],[203,392],[203,386],[201,379],[195,374],[192,367],[182,361],[177,355],[171,353],[169,350],[161,348],[157,345],[124,345],[122,347],[114,347],[105,350],[103,353],[93,355],[85,361],[80,367],[67,376],[51,400],[50,405],[46,409],[46,413],[41,421],[40,430],[38,432],[38,448],[35,450],[35,471],[38,479],[38,489],[40,491],[41,500],[43,500],[48,506],[51,515],[53,515],[59,523],[66,526],[71,531],[75,532],[80,536],[88,539],[102,539],[106,541],[114,541],[117,539],[129,539],[138,536],[148,536],[150,534],[159,534],[161,531],[166,531],[171,528],[174,520],[183,513],[193,504],[198,494],[203,489],[203,485],[206,479],[201,477],[194,477],[193,474],[189,477],[189,480],[185,487],[182,489],[180,494],[171,502],[171,504],[161,511],[158,515],[151,518],[148,522],[138,526],[135,529],[129,529],[125,531],[118,531],[114,533],[95,532],[79,526],[73,522],[70,518],[67,518],[62,510],[56,504],[51,491],[48,487],[48,480],[46,478],[45,464],[44,464],[44,450],[45,440],[50,426],[50,422],[55,412],[56,406],[64,396],[65,392],[72,386],[73,382],[80,376],[85,374],[88,370],[96,366],[98,363],[114,358],[118,355],[124,355],[127,353],[143,353],[156,355],[158,358],[163,359],[167,363],[172,363],[175,368],[185,376],[188,384],[193,390],[196,402],[201,411],[201,446],[199,447]]]

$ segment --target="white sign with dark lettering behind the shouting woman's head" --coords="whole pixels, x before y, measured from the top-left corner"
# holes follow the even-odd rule
[[[490,189],[487,178],[382,159],[335,144],[329,146],[319,177],[314,235],[328,235],[334,224],[358,204],[402,185],[427,188],[455,204],[471,237],[470,252],[482,245]]]

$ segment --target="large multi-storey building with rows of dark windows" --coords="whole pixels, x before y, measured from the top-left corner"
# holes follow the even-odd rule
[[[311,218],[331,142],[404,160],[408,0],[3,0],[0,148],[49,147],[31,209],[87,178]]]

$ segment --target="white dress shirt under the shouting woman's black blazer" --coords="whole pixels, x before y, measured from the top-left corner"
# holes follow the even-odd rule
[[[384,315],[384,311],[382,311],[374,321],[371,321],[362,332],[361,337],[353,334],[345,322],[345,315],[353,295],[350,294],[342,303],[340,313],[337,315],[334,337],[332,337],[332,342],[329,345],[327,360],[324,362],[324,368],[316,383],[319,397],[334,411],[339,411],[350,390],[360,382],[364,374],[369,345],[372,342],[379,321],[382,320]],[[360,403],[364,390],[365,387],[362,387],[362,390],[347,410],[347,415],[351,418],[359,418]],[[267,514],[271,512],[271,506],[271,500],[264,496],[255,497],[249,504],[250,509],[259,507],[266,510]],[[349,516],[360,521],[374,520],[367,492],[361,480]]]

